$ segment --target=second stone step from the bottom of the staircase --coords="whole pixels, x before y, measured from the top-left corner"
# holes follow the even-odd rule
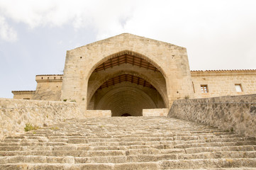
[[[244,157],[245,156],[245,157]],[[255,158],[256,152],[206,152],[200,154],[139,154],[128,156],[112,156],[112,157],[48,157],[48,156],[13,156],[0,157],[0,164],[11,163],[72,163],[72,164],[88,164],[88,163],[127,163],[127,162],[158,162],[170,159],[218,159],[219,157],[226,159],[238,158]]]

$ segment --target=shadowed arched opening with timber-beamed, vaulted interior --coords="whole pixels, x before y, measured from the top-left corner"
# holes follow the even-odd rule
[[[119,52],[92,72],[87,101],[89,110],[141,116],[145,108],[167,108],[165,77],[134,52]]]

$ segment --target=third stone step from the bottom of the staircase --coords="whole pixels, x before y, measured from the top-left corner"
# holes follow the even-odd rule
[[[136,148],[126,150],[91,150],[89,147],[69,146],[69,147],[55,147],[50,150],[28,150],[25,151],[0,151],[0,156],[18,156],[18,155],[42,155],[42,156],[73,156],[73,157],[106,157],[106,156],[126,156],[126,155],[140,155],[140,154],[196,154],[204,152],[232,152],[232,151],[255,151],[256,147],[245,145],[245,146],[230,146],[230,147],[193,147],[187,149],[157,149],[157,148]],[[88,150],[89,149],[89,150]]]

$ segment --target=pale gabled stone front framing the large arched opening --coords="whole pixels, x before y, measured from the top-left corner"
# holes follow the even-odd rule
[[[174,100],[194,96],[186,48],[124,33],[67,51],[61,99],[76,101],[85,111],[92,72],[99,64],[122,52],[147,60],[162,73],[168,108]]]

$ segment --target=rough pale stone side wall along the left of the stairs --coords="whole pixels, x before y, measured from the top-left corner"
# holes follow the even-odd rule
[[[43,127],[70,118],[84,118],[77,103],[0,98],[0,140],[24,132],[26,123]]]

